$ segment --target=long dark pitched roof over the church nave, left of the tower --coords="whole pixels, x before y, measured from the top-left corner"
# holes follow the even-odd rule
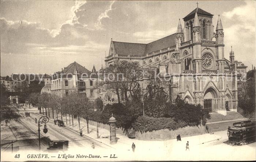
[[[163,48],[174,46],[176,44],[175,37],[176,33],[148,44],[114,41],[113,44],[117,54],[144,55],[150,52],[161,50]]]

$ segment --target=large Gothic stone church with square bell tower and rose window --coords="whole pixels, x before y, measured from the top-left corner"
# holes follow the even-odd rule
[[[232,50],[224,58],[224,30],[219,17],[214,31],[213,16],[196,8],[183,18],[184,28],[179,20],[176,33],[148,44],[111,40],[106,67],[128,60],[156,68],[172,78],[173,96],[221,114],[237,111],[237,62]]]

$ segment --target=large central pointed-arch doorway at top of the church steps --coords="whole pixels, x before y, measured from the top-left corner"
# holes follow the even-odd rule
[[[212,87],[209,87],[204,92],[204,109],[207,109],[209,112],[218,109],[218,93]]]

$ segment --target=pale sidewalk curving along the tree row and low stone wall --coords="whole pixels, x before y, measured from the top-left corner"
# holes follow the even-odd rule
[[[31,107],[31,109],[27,109],[27,111],[38,111],[37,108]],[[50,114],[52,117],[52,114]],[[54,114],[56,116],[56,114]],[[58,115],[59,119],[60,114]],[[52,119],[52,118],[50,118]],[[53,120],[53,119],[52,119]],[[65,123],[65,126],[73,129],[78,132],[79,134],[79,127],[78,127],[78,119],[74,119],[74,127],[72,126],[72,118],[71,120],[71,125],[69,125],[69,117],[67,116],[67,123],[66,124],[66,117],[63,116],[63,122]],[[139,150],[139,148],[148,148],[149,150],[157,149],[159,151],[159,148],[164,148],[167,146],[173,146],[173,147],[180,147],[179,145],[182,145],[182,147],[185,147],[187,141],[189,141],[189,144],[191,146],[196,146],[196,145],[201,145],[203,143],[211,142],[211,141],[217,141],[217,139],[221,139],[220,136],[214,135],[214,134],[203,134],[203,135],[195,135],[191,137],[181,137],[182,141],[178,141],[176,139],[170,139],[170,140],[165,140],[165,141],[143,141],[143,140],[138,140],[138,139],[131,139],[128,138],[124,134],[116,134],[117,138],[117,143],[111,145],[110,144],[110,131],[109,131],[109,126],[106,125],[105,128],[99,127],[99,136],[100,138],[97,138],[97,126],[91,125],[89,122],[89,134],[87,134],[87,124],[86,120],[81,118],[80,119],[80,127],[83,130],[83,135],[86,135],[88,137],[91,137],[95,139],[96,141],[102,142],[105,145],[108,145],[114,149],[118,150],[126,150],[126,151],[131,151],[132,150],[132,143],[135,143],[136,145],[136,150]],[[181,144],[182,143],[182,144]],[[152,147],[154,146],[154,147]]]

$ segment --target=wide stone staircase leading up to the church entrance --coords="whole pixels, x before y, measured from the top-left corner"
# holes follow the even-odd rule
[[[244,116],[235,111],[227,111],[227,115],[218,114],[216,112],[211,113],[211,119],[207,119],[206,133],[227,130],[233,123],[248,120]]]

